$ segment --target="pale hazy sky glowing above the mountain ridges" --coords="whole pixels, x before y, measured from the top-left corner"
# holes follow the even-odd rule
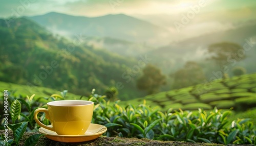
[[[186,12],[204,0],[0,0],[0,17],[13,15],[32,16],[48,12],[71,15],[100,16],[124,13],[127,15],[178,14]],[[201,12],[250,9],[256,6],[255,0],[206,0],[207,8]]]

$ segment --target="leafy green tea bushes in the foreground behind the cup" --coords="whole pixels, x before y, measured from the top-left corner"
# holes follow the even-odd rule
[[[18,99],[22,103],[22,107],[26,107],[22,108],[21,113],[23,114],[17,118],[19,122],[29,121],[30,128],[27,128],[26,131],[37,131],[38,125],[31,120],[33,117],[29,116],[36,108],[46,107],[47,102],[65,99],[66,93],[67,91],[63,91],[61,95],[53,94],[50,98],[41,98],[37,101],[33,101],[31,97],[25,100],[23,97],[10,95],[9,100],[11,103]],[[106,126],[108,128],[108,131],[104,133],[106,136],[223,144],[256,144],[256,131],[252,122],[247,118],[229,121],[231,110],[222,111],[215,108],[210,112],[203,109],[191,112],[170,108],[166,112],[161,112],[158,107],[148,106],[145,100],[138,106],[131,103],[124,107],[118,105],[119,101],[110,102],[106,96],[95,94],[94,90],[92,95],[81,96],[80,100],[94,102],[92,123]],[[1,102],[0,104],[2,104]],[[49,124],[49,120],[45,118],[44,114],[39,116],[44,124]],[[3,126],[3,121],[1,124]]]

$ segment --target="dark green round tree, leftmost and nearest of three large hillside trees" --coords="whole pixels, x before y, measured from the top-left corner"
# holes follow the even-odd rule
[[[166,77],[161,70],[152,64],[143,69],[143,76],[137,80],[137,87],[148,94],[156,93],[161,85],[166,84]]]

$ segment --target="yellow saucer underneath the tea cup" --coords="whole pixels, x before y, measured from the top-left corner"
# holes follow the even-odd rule
[[[98,124],[90,124],[88,130],[84,135],[58,135],[56,132],[39,128],[39,132],[45,134],[49,139],[60,142],[83,142],[98,138],[100,135],[106,132],[106,127]]]

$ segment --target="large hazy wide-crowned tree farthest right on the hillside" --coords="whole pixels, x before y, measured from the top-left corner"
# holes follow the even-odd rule
[[[238,61],[245,59],[245,51],[240,44],[233,42],[220,42],[208,46],[209,60],[215,61],[220,66],[221,76],[227,72],[229,64],[235,65]]]

